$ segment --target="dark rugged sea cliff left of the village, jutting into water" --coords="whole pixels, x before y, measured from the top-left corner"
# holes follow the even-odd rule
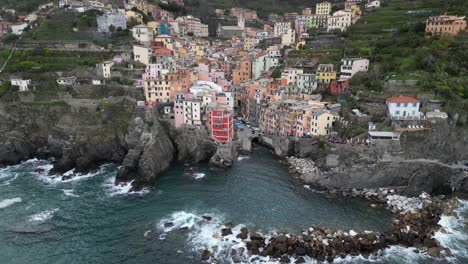
[[[208,161],[217,146],[206,129],[175,129],[155,108],[128,99],[102,101],[97,110],[66,102],[0,102],[0,165],[33,157],[56,159],[52,174],[121,163],[117,182],[138,190],[174,160]]]

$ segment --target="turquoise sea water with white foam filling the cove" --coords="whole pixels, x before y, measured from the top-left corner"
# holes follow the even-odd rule
[[[139,194],[113,185],[115,165],[67,182],[46,176],[50,167],[48,161],[30,160],[0,170],[1,264],[200,263],[199,251],[216,251],[213,247],[223,261],[233,245],[215,234],[227,222],[234,230],[247,226],[268,234],[300,233],[311,224],[383,231],[391,219],[363,201],[327,199],[304,188],[263,148],[229,171],[173,164]],[[45,171],[35,172],[38,168]],[[206,215],[213,219],[205,221]],[[445,220],[458,232],[460,223]],[[166,222],[175,226],[164,228]],[[463,241],[466,233],[457,235]],[[452,236],[440,239],[466,253]],[[392,250],[384,262],[427,261],[411,250]]]

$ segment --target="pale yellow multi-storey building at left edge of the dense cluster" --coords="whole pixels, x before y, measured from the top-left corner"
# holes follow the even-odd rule
[[[162,74],[158,80],[143,82],[146,103],[166,103],[171,99],[171,86],[166,74]]]

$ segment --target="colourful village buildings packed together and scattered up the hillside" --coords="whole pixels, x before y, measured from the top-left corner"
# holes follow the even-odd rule
[[[184,1],[169,2],[184,5]],[[244,129],[271,136],[337,141],[335,127],[351,122],[344,116],[366,120],[369,114],[347,109],[350,112],[343,115],[341,104],[345,100],[339,98],[353,96],[350,83],[356,75],[366,74],[372,63],[346,53],[338,64],[305,57],[291,61],[285,56],[304,50],[311,32],[346,32],[366,13],[379,9],[382,2],[349,0],[340,3],[342,9],[337,10],[334,2],[319,1],[300,13],[270,14],[268,20],[260,20],[256,11],[245,8],[216,9],[220,23],[210,29],[198,17],[175,16],[145,0],[124,1],[123,6],[104,0],[60,0],[19,16],[19,21],[0,22],[0,37],[21,36],[24,29],[44,23],[43,17],[51,10],[98,10],[97,31],[112,34],[128,30],[133,46],[97,63],[85,76],[61,73],[57,85],[91,84],[99,89],[112,86],[115,77],[131,69],[132,86],[144,93],[139,105],[163,106],[164,115],[176,128],[206,126],[220,144],[235,141],[236,131]],[[7,12],[14,14],[14,10]],[[222,25],[224,21],[234,25]],[[249,26],[252,23],[256,26]],[[464,17],[440,14],[427,18],[425,31],[428,37],[454,36],[466,28]],[[21,92],[34,89],[34,79],[14,76],[8,81]],[[366,144],[372,139],[395,140],[401,131],[430,129],[428,120],[447,118],[438,107],[423,111],[422,100],[414,97],[394,94],[382,103],[386,103],[388,118],[395,121],[393,128],[380,131],[369,121],[368,138],[354,140]],[[340,140],[350,142],[352,138]]]

